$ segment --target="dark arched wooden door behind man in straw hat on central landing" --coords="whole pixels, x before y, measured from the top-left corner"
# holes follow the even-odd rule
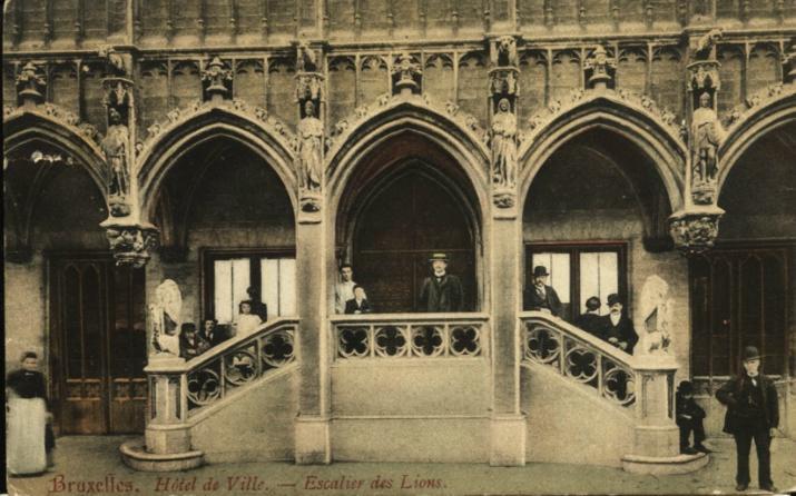
[[[419,311],[435,251],[448,254],[449,272],[461,278],[464,309],[475,309],[475,251],[466,214],[461,200],[421,171],[396,178],[368,201],[353,244],[354,280],[375,311]]]

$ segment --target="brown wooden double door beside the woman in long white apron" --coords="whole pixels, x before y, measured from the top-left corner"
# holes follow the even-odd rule
[[[144,430],[147,401],[144,270],[107,255],[49,264],[50,364],[62,434]]]

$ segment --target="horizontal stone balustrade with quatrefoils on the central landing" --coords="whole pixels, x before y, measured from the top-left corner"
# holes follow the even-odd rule
[[[489,356],[489,316],[363,314],[330,318],[336,360]]]

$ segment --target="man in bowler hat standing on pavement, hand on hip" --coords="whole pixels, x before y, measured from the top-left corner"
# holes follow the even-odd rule
[[[737,457],[736,490],[749,487],[749,450],[751,440],[757,449],[757,482],[760,489],[776,493],[772,480],[772,438],[779,425],[777,389],[760,367],[760,353],[754,346],[744,349],[743,371],[716,391],[716,398],[727,406],[724,431],[735,437]]]

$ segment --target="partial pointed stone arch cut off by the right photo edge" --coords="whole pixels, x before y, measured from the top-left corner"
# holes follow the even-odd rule
[[[730,171],[760,137],[796,121],[796,83],[775,85],[749,99],[753,105],[738,116],[718,149],[718,195]]]

